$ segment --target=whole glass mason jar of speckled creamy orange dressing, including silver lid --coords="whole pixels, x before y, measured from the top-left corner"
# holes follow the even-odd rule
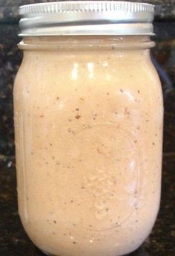
[[[20,13],[14,115],[24,229],[48,255],[132,252],[150,234],[160,199],[153,6],[56,2]]]

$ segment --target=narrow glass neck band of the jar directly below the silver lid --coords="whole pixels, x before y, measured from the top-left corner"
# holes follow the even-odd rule
[[[154,46],[150,36],[35,36],[25,37],[19,48],[50,51],[145,50]]]

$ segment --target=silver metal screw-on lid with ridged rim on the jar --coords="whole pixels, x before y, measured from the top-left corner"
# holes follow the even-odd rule
[[[152,4],[56,1],[19,8],[19,36],[153,35]]]

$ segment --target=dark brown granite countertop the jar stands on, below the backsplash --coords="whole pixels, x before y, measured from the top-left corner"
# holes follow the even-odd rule
[[[175,153],[163,156],[162,200],[158,219],[145,243],[131,256],[174,256]],[[29,240],[19,220],[16,199],[15,159],[0,158],[0,255],[42,256]],[[83,255],[82,255],[83,256]]]

